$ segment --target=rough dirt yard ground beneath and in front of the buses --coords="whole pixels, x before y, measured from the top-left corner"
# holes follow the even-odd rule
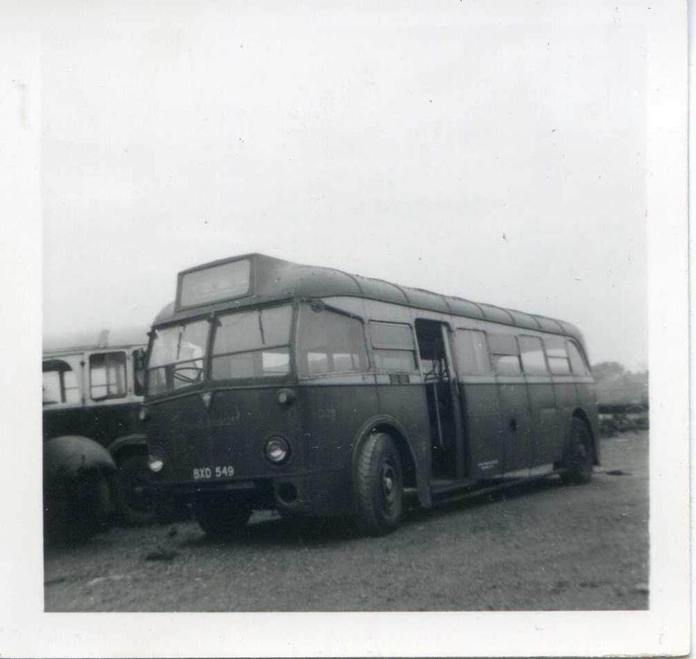
[[[648,435],[602,442],[592,482],[556,478],[410,511],[400,530],[252,518],[209,541],[194,522],[113,528],[46,548],[47,611],[641,609],[648,605]]]

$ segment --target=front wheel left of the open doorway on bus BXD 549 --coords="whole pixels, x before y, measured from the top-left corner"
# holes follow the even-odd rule
[[[404,507],[404,475],[399,451],[387,434],[370,435],[356,466],[356,525],[366,535],[395,530]]]

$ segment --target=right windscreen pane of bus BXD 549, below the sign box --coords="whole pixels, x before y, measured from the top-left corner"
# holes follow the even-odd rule
[[[290,373],[292,307],[237,311],[216,319],[211,374],[214,380]]]

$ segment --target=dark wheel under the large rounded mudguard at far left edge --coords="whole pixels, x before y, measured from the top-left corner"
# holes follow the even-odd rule
[[[111,512],[109,484],[100,471],[65,479],[45,491],[44,531],[50,542],[84,542],[106,530]]]

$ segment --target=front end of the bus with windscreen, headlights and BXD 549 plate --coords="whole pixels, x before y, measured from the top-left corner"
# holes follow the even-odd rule
[[[213,536],[254,509],[347,514],[345,452],[318,456],[306,432],[286,301],[155,324],[142,418],[162,486],[187,495]]]

